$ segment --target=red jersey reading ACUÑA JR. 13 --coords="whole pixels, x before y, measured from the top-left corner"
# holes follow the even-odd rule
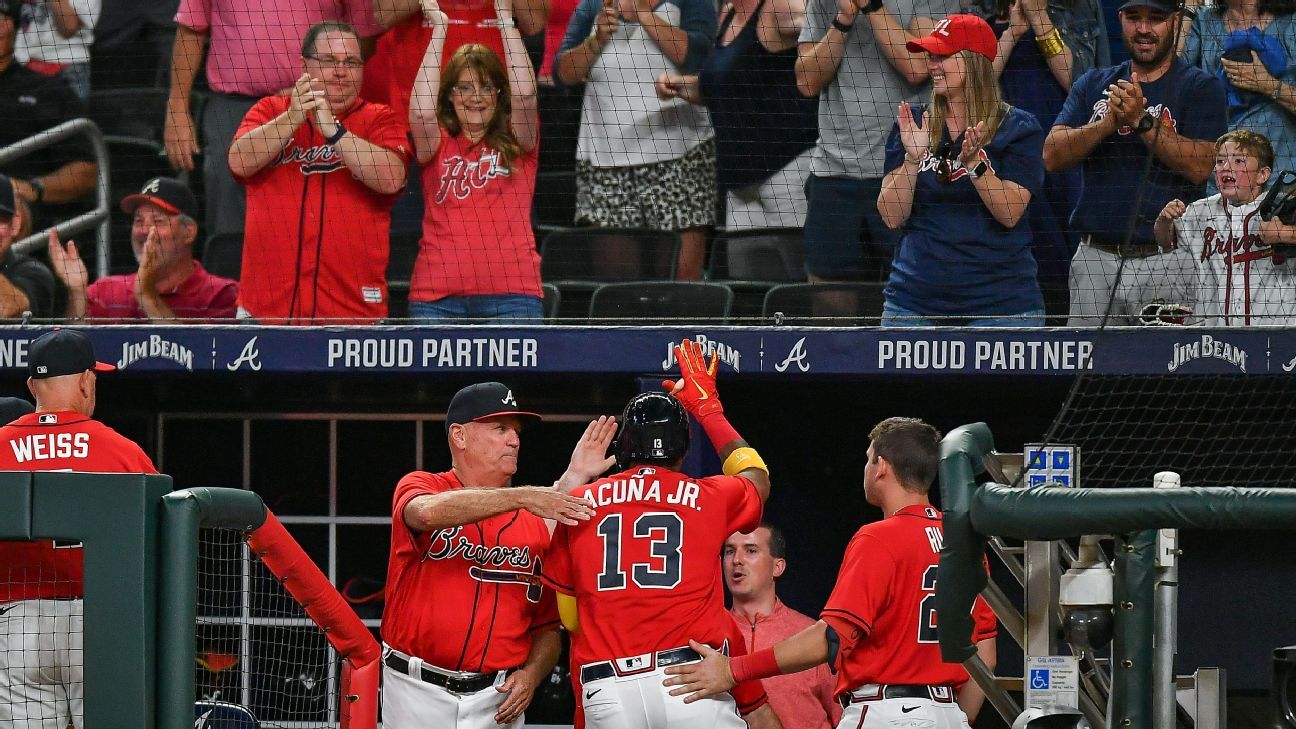
[[[724,610],[721,547],[761,523],[761,497],[740,476],[693,479],[634,467],[572,492],[595,508],[559,525],[544,580],[577,598],[572,663],[687,646],[734,634]]]

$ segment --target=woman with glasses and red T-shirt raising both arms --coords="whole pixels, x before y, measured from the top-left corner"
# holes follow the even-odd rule
[[[410,131],[422,169],[422,240],[410,281],[410,317],[540,323],[540,257],[531,231],[539,118],[535,73],[495,0],[504,60],[461,45],[442,70],[450,19],[422,0],[432,40],[410,96]]]

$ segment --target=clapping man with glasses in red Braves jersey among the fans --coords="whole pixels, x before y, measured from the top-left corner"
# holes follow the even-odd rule
[[[264,323],[377,322],[410,163],[406,123],[360,97],[351,26],[311,26],[302,70],[288,96],[248,112],[229,145],[229,170],[248,188],[238,305]]]

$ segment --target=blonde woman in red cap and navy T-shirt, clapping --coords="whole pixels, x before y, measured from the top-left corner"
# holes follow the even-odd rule
[[[877,210],[903,236],[883,326],[1043,326],[1026,208],[1043,183],[1045,132],[1003,102],[998,39],[976,16],[950,16],[927,38],[932,102],[899,105],[886,141]]]

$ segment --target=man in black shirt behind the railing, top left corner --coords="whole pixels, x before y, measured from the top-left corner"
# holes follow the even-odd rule
[[[86,105],[64,79],[38,74],[14,58],[22,5],[23,0],[0,0],[0,147],[86,115]],[[89,141],[78,135],[6,162],[0,171],[13,178],[14,193],[44,224],[86,210],[73,204],[95,189],[97,170]]]

